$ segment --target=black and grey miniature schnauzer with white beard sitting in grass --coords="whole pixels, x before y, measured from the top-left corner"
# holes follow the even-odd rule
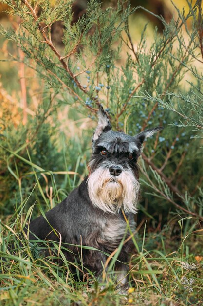
[[[123,237],[128,237],[126,219],[135,230],[134,214],[139,199],[137,160],[142,143],[162,128],[142,131],[136,136],[112,131],[110,120],[100,106],[98,126],[93,135],[93,153],[89,175],[69,197],[29,224],[29,239],[59,240],[72,252],[68,261],[79,258],[81,244],[96,250],[83,249],[83,266],[99,275],[108,258]],[[78,247],[77,247],[78,246]],[[117,281],[126,283],[125,262],[129,260],[133,243],[128,240],[117,258]],[[73,255],[74,254],[74,255]],[[80,254],[81,255],[81,254]]]

